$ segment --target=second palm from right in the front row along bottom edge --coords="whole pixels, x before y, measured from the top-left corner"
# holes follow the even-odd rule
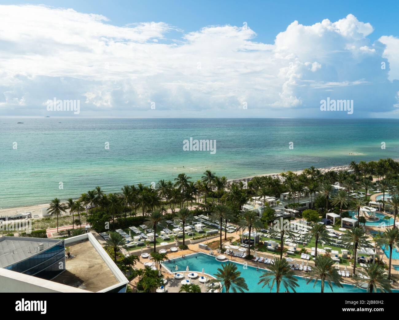
[[[338,274],[338,270],[334,267],[334,260],[329,256],[316,256],[315,265],[309,272],[310,278],[306,282],[314,280],[313,288],[316,286],[318,280],[321,281],[321,293],[324,292],[324,282],[327,281],[328,285],[332,290],[332,283],[338,287],[343,287],[341,284],[342,276]]]

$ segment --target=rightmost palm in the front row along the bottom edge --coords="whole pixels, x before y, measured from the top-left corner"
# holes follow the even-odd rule
[[[363,266],[363,270],[359,271],[359,274],[363,277],[354,277],[356,286],[363,287],[364,284],[367,284],[367,291],[370,293],[378,291],[392,292],[391,281],[385,277],[383,266],[377,263],[366,264]]]

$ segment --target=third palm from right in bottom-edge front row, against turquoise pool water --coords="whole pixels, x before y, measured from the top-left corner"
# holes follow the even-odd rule
[[[295,287],[298,287],[297,279],[294,277],[294,271],[291,270],[291,266],[285,259],[275,258],[275,263],[269,265],[269,269],[271,272],[264,272],[259,278],[258,284],[263,284],[262,288],[265,285],[269,285],[270,292],[274,284],[276,284],[276,292],[280,292],[280,284],[284,286],[284,288],[288,291],[288,288],[292,291],[295,291]]]

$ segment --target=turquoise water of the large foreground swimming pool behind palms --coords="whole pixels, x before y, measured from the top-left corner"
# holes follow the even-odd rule
[[[256,270],[253,266],[246,266],[244,268],[243,264],[234,263],[238,270],[241,272],[241,276],[245,278],[245,282],[247,282],[249,292],[270,292],[270,287],[265,286],[262,288],[259,282],[259,276],[265,272],[265,270]],[[199,252],[196,254],[192,254],[185,258],[178,258],[176,260],[171,260],[170,262],[163,262],[162,266],[166,267],[169,271],[175,272],[176,265],[178,266],[178,271],[186,271],[188,266],[190,271],[201,272],[202,268],[204,268],[204,272],[207,274],[215,275],[217,273],[217,268],[221,267],[221,264],[225,262],[219,262],[215,259],[214,256],[209,256],[208,254]],[[262,264],[259,264],[260,266]],[[306,280],[302,277],[296,276],[298,279],[299,287],[295,289],[296,292],[320,292],[321,285],[320,281],[316,283],[316,286],[313,288],[314,281],[306,284]],[[338,288],[333,285],[334,292],[365,292],[365,290],[356,288],[350,284],[343,284],[343,288]],[[280,291],[284,292],[285,289],[280,287]],[[272,292],[276,292],[276,288],[272,288]],[[324,292],[331,292],[331,289],[328,285],[324,286]]]

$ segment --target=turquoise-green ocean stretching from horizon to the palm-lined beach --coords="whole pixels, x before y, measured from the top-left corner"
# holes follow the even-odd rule
[[[398,125],[395,119],[0,119],[0,208],[75,198],[97,185],[109,193],[173,181],[182,172],[192,180],[207,169],[235,179],[396,158]],[[183,151],[190,137],[215,139],[216,153]]]

